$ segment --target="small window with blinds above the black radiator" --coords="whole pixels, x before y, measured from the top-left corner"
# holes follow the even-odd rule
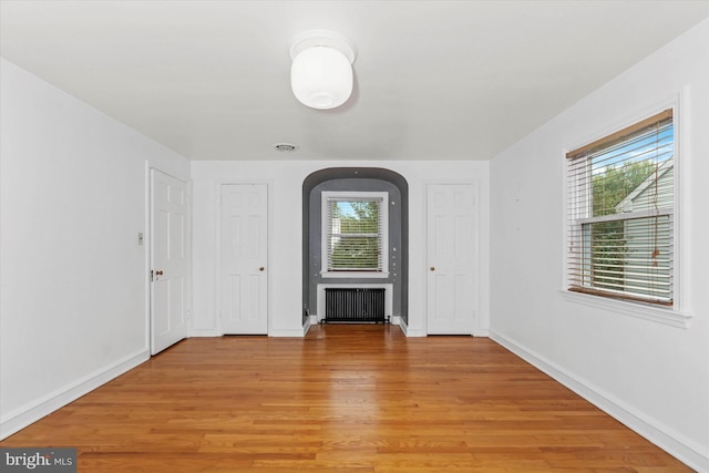
[[[388,194],[322,193],[322,271],[386,276]]]

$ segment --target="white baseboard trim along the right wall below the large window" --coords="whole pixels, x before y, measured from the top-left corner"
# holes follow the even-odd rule
[[[545,357],[528,350],[521,343],[490,330],[490,338],[523,360],[564,384],[602,411],[643,435],[660,449],[676,456],[698,472],[709,472],[709,450],[699,445],[661,422],[638,412],[614,395],[558,367]]]

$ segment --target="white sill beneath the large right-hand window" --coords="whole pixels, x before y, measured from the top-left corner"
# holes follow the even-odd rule
[[[559,290],[562,298],[569,302],[582,304],[597,309],[610,310],[624,316],[636,317],[644,320],[662,323],[670,327],[686,329],[689,327],[691,316],[678,312],[671,308],[655,307],[647,304],[617,300],[603,296],[592,296],[569,290]]]

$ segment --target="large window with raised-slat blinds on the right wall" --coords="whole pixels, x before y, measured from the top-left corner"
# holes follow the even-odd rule
[[[566,157],[568,289],[671,306],[672,111]]]

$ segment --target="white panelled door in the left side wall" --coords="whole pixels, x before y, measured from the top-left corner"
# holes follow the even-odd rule
[[[187,183],[151,169],[151,353],[187,337]]]

